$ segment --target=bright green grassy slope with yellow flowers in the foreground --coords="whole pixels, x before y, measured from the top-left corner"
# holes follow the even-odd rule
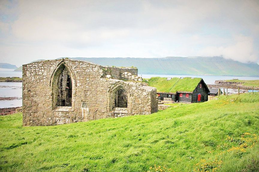
[[[0,171],[259,168],[258,93],[48,127],[22,127],[22,114],[13,114],[0,117],[0,129]]]

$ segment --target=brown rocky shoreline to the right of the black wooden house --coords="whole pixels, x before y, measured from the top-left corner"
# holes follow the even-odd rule
[[[225,80],[216,80],[215,84],[207,85],[209,88],[230,88],[230,89],[244,89],[244,90],[251,90],[253,87],[252,86],[244,86],[241,82],[229,82]],[[259,87],[254,87],[254,90],[258,90]]]

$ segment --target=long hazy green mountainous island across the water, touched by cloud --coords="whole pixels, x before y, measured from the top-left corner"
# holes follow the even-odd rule
[[[64,57],[67,58],[67,57]],[[60,58],[59,58],[60,59]],[[102,66],[137,67],[138,74],[259,76],[257,63],[241,63],[223,57],[164,57],[164,58],[69,58]],[[40,61],[40,60],[37,60]],[[16,69],[22,71],[22,67]]]

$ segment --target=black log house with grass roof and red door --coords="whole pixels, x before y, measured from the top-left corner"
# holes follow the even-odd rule
[[[202,78],[151,77],[149,86],[156,87],[158,101],[167,103],[196,103],[208,101],[208,89]]]

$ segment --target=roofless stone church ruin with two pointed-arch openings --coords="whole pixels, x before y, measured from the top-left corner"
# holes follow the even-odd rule
[[[46,126],[157,112],[156,88],[136,68],[103,67],[77,60],[22,66],[24,126]]]

